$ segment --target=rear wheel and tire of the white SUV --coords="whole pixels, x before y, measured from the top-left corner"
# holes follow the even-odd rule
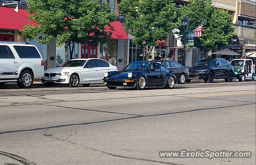
[[[29,70],[22,70],[18,78],[18,86],[20,88],[30,88],[34,82],[34,75]]]

